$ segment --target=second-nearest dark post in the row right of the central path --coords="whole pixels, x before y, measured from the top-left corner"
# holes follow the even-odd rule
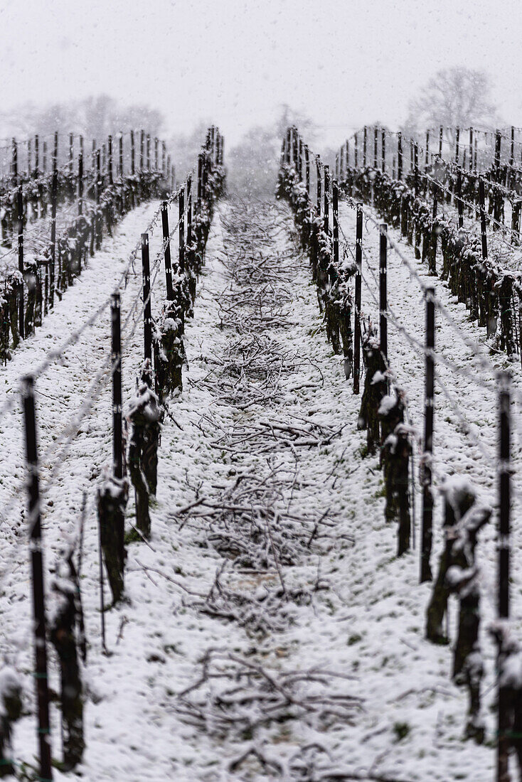
[[[431,540],[434,500],[431,489],[431,460],[434,434],[435,381],[435,289],[426,289],[426,379],[424,390],[424,439],[421,459],[423,518],[420,548],[420,583],[431,581]]]

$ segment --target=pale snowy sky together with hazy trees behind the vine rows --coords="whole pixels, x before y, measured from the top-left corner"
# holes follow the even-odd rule
[[[0,137],[144,127],[181,177],[214,123],[266,195],[288,122],[326,162],[363,124],[522,125],[519,34],[513,0],[2,0]]]

